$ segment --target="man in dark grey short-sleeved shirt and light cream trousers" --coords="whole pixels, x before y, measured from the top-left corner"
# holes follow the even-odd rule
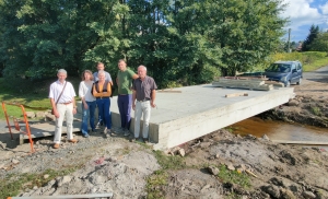
[[[153,78],[147,75],[147,68],[144,66],[138,67],[139,79],[133,82],[132,108],[134,110],[134,138],[132,142],[139,138],[140,119],[143,115],[142,138],[148,142],[149,120],[151,115],[151,107],[155,107],[155,97],[157,85]],[[137,99],[137,102],[136,102]]]

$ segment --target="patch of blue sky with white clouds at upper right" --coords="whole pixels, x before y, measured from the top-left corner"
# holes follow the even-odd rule
[[[328,30],[328,0],[283,0],[286,8],[282,17],[289,17],[290,22],[284,30],[291,28],[291,42],[305,40],[312,24],[320,30]],[[283,37],[288,40],[288,34]]]

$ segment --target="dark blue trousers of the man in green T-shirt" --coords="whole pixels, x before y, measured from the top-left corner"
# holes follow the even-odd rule
[[[129,129],[131,124],[132,94],[118,95],[117,106],[120,115],[120,127]]]

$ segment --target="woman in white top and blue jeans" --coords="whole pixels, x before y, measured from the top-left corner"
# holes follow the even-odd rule
[[[94,132],[94,110],[95,110],[95,97],[91,94],[93,85],[93,75],[90,70],[85,70],[82,73],[82,82],[79,86],[79,96],[82,101],[82,134],[84,138],[89,137],[87,133],[87,121],[90,119],[91,130]]]

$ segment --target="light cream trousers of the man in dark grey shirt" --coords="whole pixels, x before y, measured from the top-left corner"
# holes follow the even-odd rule
[[[142,126],[142,138],[148,138],[149,131],[149,120],[151,115],[151,105],[150,101],[138,102],[136,103],[134,110],[134,138],[139,138],[140,132],[140,119],[143,115],[143,126]]]

